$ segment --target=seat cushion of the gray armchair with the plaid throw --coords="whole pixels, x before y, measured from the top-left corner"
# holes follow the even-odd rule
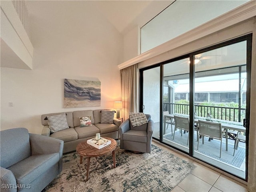
[[[123,134],[123,140],[136,141],[136,142],[147,142],[147,132],[146,131],[135,131],[128,130]]]

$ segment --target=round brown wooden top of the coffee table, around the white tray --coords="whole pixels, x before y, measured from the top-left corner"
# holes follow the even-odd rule
[[[81,142],[76,147],[76,152],[81,156],[87,156],[87,157],[98,157],[102,156],[104,154],[107,154],[109,152],[112,152],[116,149],[116,140],[109,137],[104,137],[105,139],[111,140],[111,144],[101,148],[97,149],[94,146],[91,146],[87,144],[87,141]]]

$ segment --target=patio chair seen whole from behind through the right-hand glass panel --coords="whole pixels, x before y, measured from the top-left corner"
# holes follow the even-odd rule
[[[204,144],[204,136],[207,136],[209,138],[215,138],[220,140],[220,158],[221,158],[221,146],[222,146],[221,123],[198,120],[198,126],[199,126],[199,134],[198,134],[197,150],[199,146],[200,136],[202,136],[203,144]]]

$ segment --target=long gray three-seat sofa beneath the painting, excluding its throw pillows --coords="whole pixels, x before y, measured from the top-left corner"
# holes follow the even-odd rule
[[[104,109],[109,110],[109,109]],[[63,153],[76,150],[76,146],[83,141],[94,138],[96,133],[100,133],[101,137],[110,137],[118,139],[118,127],[121,124],[121,120],[114,118],[114,123],[100,123],[101,122],[101,110],[83,110],[66,112],[66,118],[68,126],[70,128],[64,129],[58,132],[50,133],[48,120],[45,120],[46,116],[52,116],[60,113],[44,114],[42,115],[42,135],[58,138],[64,141]],[[80,127],[80,117],[90,116],[92,126]]]

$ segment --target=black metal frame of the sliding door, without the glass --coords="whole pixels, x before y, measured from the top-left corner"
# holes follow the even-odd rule
[[[197,51],[194,51],[194,52],[191,52],[189,54],[186,54],[186,55],[183,55],[183,56],[179,56],[177,58],[173,58],[173,59],[170,59],[170,60],[166,60],[164,62],[160,62],[158,64],[154,64],[152,66],[148,66],[148,67],[145,67],[145,68],[141,68],[139,70],[139,80],[140,80],[140,83],[139,83],[139,98],[140,98],[140,103],[139,103],[139,111],[140,112],[143,112],[143,72],[144,70],[148,70],[148,69],[151,69],[151,68],[155,68],[155,67],[159,67],[160,66],[160,121],[159,122],[163,122],[163,114],[162,114],[162,111],[163,111],[163,86],[164,86],[164,77],[163,77],[163,66],[164,64],[167,64],[167,63],[170,63],[170,62],[174,62],[174,61],[177,61],[177,60],[181,60],[181,59],[184,59],[184,58],[190,58],[190,78],[189,78],[189,82],[190,82],[190,93],[189,93],[189,109],[190,109],[190,119],[192,119],[192,121],[190,121],[190,131],[193,132],[194,131],[194,80],[195,80],[195,66],[194,66],[194,56],[196,54],[200,54],[200,53],[203,53],[203,52],[207,52],[207,51],[210,51],[210,50],[213,50],[213,49],[216,49],[216,48],[221,48],[221,47],[224,47],[224,46],[228,46],[228,45],[231,45],[231,44],[235,44],[235,43],[238,43],[238,42],[242,42],[242,41],[246,41],[247,43],[247,46],[246,46],[246,98],[250,98],[250,87],[251,87],[251,63],[252,63],[252,34],[247,34],[247,35],[244,35],[244,36],[241,36],[241,37],[238,37],[238,38],[235,38],[235,39],[232,39],[232,40],[228,40],[226,42],[222,42],[222,43],[219,43],[219,44],[216,44],[216,45],[213,45],[213,46],[209,46],[207,48],[204,48],[204,49],[201,49],[201,50],[197,50]],[[242,180],[245,180],[247,182],[248,180],[248,147],[249,147],[249,127],[250,127],[250,99],[246,99],[246,157],[245,157],[245,179],[244,178],[240,178],[230,172],[227,172],[225,170],[222,170],[221,168],[218,168],[212,164],[210,164],[211,166],[214,166],[224,172],[227,172],[228,174],[231,174],[235,177],[238,177]],[[181,151],[182,153],[184,154],[188,154],[189,156],[193,157],[193,158],[196,158],[194,157],[194,134],[189,134],[189,153],[187,152],[184,152],[178,148],[175,148],[174,146],[171,146],[170,144],[166,144],[165,142],[163,142],[163,124],[160,123],[160,138],[154,138],[156,140],[158,140],[159,142],[169,146],[169,147],[172,147],[178,151]],[[197,159],[197,158],[196,158]],[[198,159],[200,160],[200,159]],[[205,162],[203,160],[200,160],[202,162]],[[209,164],[208,162],[205,162],[207,164]]]

